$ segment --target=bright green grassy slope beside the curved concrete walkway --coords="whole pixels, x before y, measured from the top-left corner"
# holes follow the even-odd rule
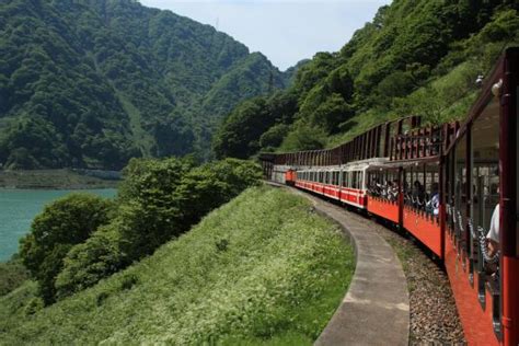
[[[34,284],[0,298],[0,344],[311,344],[353,270],[351,246],[307,200],[253,188],[147,260],[33,315]]]

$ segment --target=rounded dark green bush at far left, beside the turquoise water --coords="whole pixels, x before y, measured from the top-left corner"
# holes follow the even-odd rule
[[[38,280],[46,303],[54,302],[56,276],[73,245],[84,242],[109,219],[113,205],[95,195],[72,194],[46,206],[21,239],[20,257]]]

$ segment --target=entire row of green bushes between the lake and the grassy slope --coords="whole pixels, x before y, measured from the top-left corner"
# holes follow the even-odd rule
[[[89,194],[60,198],[21,240],[21,261],[45,304],[151,255],[262,178],[251,161],[196,166],[192,158],[132,159],[124,175],[115,201]]]

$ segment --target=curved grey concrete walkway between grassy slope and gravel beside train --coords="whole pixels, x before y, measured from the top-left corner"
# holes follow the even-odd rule
[[[355,245],[357,265],[349,290],[315,345],[407,345],[410,297],[402,265],[373,229],[341,208],[296,188],[321,214],[337,221]]]

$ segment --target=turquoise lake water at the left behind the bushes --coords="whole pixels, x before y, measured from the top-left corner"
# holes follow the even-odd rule
[[[74,192],[88,192],[102,197],[114,197],[116,189],[42,191],[0,189],[0,262],[7,261],[18,251],[20,238],[31,228],[34,217],[45,205]]]

